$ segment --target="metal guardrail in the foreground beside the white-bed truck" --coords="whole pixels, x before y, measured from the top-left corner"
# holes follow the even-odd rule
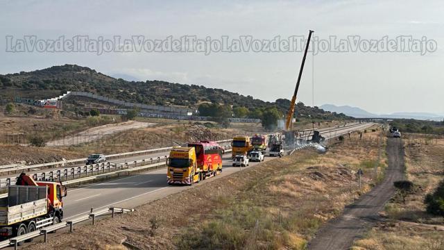
[[[126,209],[126,208],[103,208],[101,210],[94,211],[91,208],[91,212],[87,215],[81,215],[79,217],[76,217],[74,219],[70,219],[67,222],[60,222],[58,224],[53,224],[53,217],[49,217],[48,219],[44,219],[44,225],[53,224],[51,226],[42,226],[40,229],[37,228],[36,231],[33,231],[31,233],[26,233],[24,235],[17,236],[15,238],[10,238],[9,240],[3,240],[0,242],[0,248],[4,247],[10,247],[13,246],[15,250],[18,249],[19,244],[21,242],[24,242],[25,240],[31,240],[33,238],[39,237],[41,235],[44,236],[44,242],[46,243],[48,240],[48,233],[55,232],[57,230],[60,230],[62,228],[69,227],[69,232],[72,233],[74,229],[74,224],[78,224],[80,222],[85,222],[89,219],[92,219],[92,224],[94,225],[96,222],[96,217],[99,217],[100,215],[105,215],[108,213],[111,213],[112,217],[114,217],[115,213],[129,213],[133,212],[134,209]]]

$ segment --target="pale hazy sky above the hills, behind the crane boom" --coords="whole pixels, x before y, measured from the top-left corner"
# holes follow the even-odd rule
[[[264,40],[276,36],[288,40],[294,35],[307,38],[309,29],[313,29],[317,41],[325,40],[318,42],[319,47],[336,47],[332,42],[325,43],[334,35],[336,41],[349,42],[349,51],[343,51],[346,47],[341,47],[342,51],[323,49],[307,56],[298,93],[300,101],[311,106],[314,75],[316,106],[332,103],[358,106],[373,113],[444,114],[443,1],[239,2],[0,0],[0,74],[69,63],[112,76],[205,85],[266,101],[291,99],[302,52],[285,48],[267,52]],[[88,35],[91,40],[112,40],[115,35],[120,35],[121,40],[130,40],[133,35],[144,35],[145,40],[196,35],[198,39],[209,37],[216,41],[223,36],[232,41],[250,35],[262,49],[229,53],[216,48],[207,55],[142,49],[97,55],[49,52],[46,43],[43,52],[10,52],[19,51],[15,45],[25,35],[45,41],[62,35],[67,40],[75,35]],[[356,42],[358,35],[361,47],[350,51],[350,41]],[[425,51],[425,55],[407,49],[386,51],[384,37],[395,40],[400,35],[418,40],[424,37],[428,42],[422,43],[422,49],[418,49],[418,43],[413,49]],[[366,51],[363,40],[379,43],[369,42],[373,49]],[[373,46],[377,44],[382,45]],[[392,48],[399,45],[388,44]]]

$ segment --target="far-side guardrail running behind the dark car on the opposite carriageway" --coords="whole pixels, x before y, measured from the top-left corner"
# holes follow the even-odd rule
[[[231,142],[231,139],[228,140],[219,140],[216,141],[217,143],[223,144],[226,142]],[[157,151],[169,151],[173,149],[173,147],[164,147],[164,148],[160,148],[160,149],[146,149],[146,150],[141,150],[141,151],[131,151],[131,152],[126,152],[126,153],[114,153],[114,154],[110,154],[105,156],[108,160],[112,159],[112,158],[126,158],[128,156],[138,156],[138,155],[144,155],[147,153],[155,153]],[[42,169],[44,167],[66,167],[67,165],[76,165],[78,163],[85,163],[85,160],[87,158],[80,158],[80,159],[74,159],[74,160],[62,160],[62,161],[58,161],[58,162],[53,162],[53,163],[42,163],[42,164],[36,164],[36,165],[21,165],[21,164],[13,164],[13,165],[3,165],[0,166],[0,176],[5,175],[5,174],[17,174],[17,171],[20,170],[26,170],[26,171],[31,171],[31,169]]]

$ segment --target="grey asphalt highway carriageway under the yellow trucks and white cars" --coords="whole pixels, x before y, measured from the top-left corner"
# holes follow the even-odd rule
[[[372,125],[373,124],[361,124],[351,128],[339,128],[337,131],[323,133],[323,136],[325,138],[331,138],[346,134],[348,131],[362,130]],[[273,159],[275,158],[268,156],[265,158],[266,161]],[[133,158],[131,158],[131,160],[133,160]],[[225,155],[223,158],[223,172],[216,177],[207,178],[207,180],[196,183],[195,185],[202,185],[203,183],[207,183],[216,178],[221,178],[222,176],[227,176],[235,172],[240,172],[241,169],[245,169],[245,167],[242,167],[241,169],[239,169],[239,167],[232,167],[231,164],[230,155]],[[250,163],[249,167],[254,167],[257,164],[259,163]],[[192,187],[167,185],[167,174],[165,169],[126,176],[114,179],[113,181],[87,185],[83,188],[68,191],[68,195],[64,199],[64,220],[71,219],[78,215],[87,214],[91,208],[99,209],[110,206],[134,208],[135,206],[166,197],[169,194],[180,192],[187,188]]]

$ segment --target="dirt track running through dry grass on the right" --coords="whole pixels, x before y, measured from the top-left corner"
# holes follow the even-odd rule
[[[404,179],[404,149],[398,138],[388,138],[388,167],[384,181],[344,209],[343,215],[334,219],[316,233],[309,242],[311,250],[349,249],[353,240],[377,222],[377,213],[395,192],[393,181]]]

